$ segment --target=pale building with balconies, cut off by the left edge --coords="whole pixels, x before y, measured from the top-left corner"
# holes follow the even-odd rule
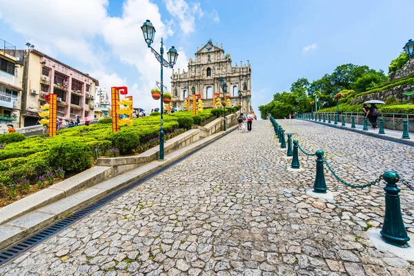
[[[0,39],[0,132],[20,124],[23,65],[16,47]]]

